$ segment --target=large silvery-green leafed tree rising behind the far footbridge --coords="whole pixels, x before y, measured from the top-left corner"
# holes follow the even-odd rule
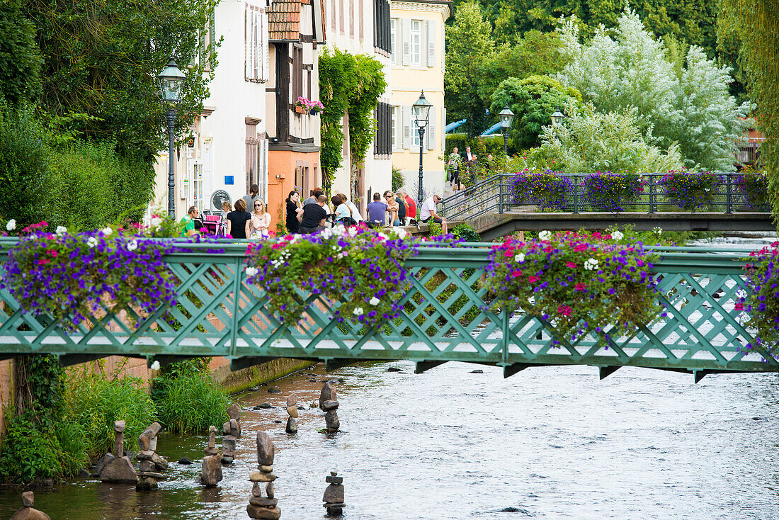
[[[688,168],[730,171],[750,110],[728,92],[731,69],[717,67],[696,46],[687,51],[685,66],[675,66],[664,43],[627,9],[615,33],[612,38],[597,30],[582,44],[569,19],[562,31],[569,62],[559,80],[580,90],[597,111],[636,107],[640,129],[651,130],[662,147],[679,143]]]

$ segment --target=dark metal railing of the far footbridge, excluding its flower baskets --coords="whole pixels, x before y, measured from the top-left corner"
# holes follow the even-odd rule
[[[527,200],[518,200],[516,193],[513,192],[512,179],[516,174],[501,173],[495,174],[487,179],[476,182],[474,186],[460,190],[453,195],[447,196],[441,202],[441,214],[446,218],[476,218],[482,214],[504,213],[515,209],[516,207],[533,208],[534,203]],[[559,210],[573,214],[588,212],[617,212],[633,211],[642,213],[679,213],[685,210],[681,209],[674,201],[666,195],[666,189],[661,185],[661,179],[665,174],[650,173],[640,176],[643,182],[643,192],[635,200],[628,200],[620,203],[619,210],[604,210],[594,207],[587,196],[587,189],[584,180],[588,173],[559,173],[555,176],[567,179],[569,189],[564,196],[564,200]],[[756,204],[750,200],[749,193],[739,185],[741,179],[740,173],[718,173],[716,181],[711,189],[710,203],[705,203],[700,207],[690,209],[693,211],[707,211],[715,213],[731,214],[735,212],[770,212],[767,203]],[[537,211],[542,211],[536,208]]]

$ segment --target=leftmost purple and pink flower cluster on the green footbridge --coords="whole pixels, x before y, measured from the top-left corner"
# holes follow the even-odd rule
[[[118,235],[111,227],[69,234],[59,226],[49,233],[41,231],[44,224],[30,226],[3,266],[2,284],[23,312],[46,314],[72,329],[105,300],[146,313],[175,305],[172,274],[162,260],[170,244]]]

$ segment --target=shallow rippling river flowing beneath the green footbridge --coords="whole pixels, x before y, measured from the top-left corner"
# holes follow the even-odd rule
[[[392,366],[401,372],[388,372]],[[160,437],[173,462],[160,489],[81,479],[37,490],[51,518],[248,518],[253,433],[276,444],[282,518],[323,518],[325,476],[344,476],[352,519],[779,519],[779,376],[705,377],[623,368],[605,380],[587,366],[498,368],[411,362],[321,365],[242,394],[244,436],[213,490],[197,483],[205,437]],[[484,373],[472,373],[483,370]],[[314,375],[317,380],[311,382]],[[308,407],[336,378],[342,432],[319,433]],[[284,433],[294,393],[299,431]],[[269,402],[274,409],[254,410]],[[279,421],[279,422],[275,422]],[[178,465],[187,456],[196,465]],[[2,490],[0,518],[20,505]],[[501,511],[508,509],[508,511]]]

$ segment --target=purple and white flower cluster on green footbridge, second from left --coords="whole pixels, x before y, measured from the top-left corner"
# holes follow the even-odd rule
[[[251,243],[246,249],[249,283],[266,293],[267,307],[285,324],[295,324],[311,295],[339,303],[333,316],[376,325],[398,316],[411,275],[403,266],[414,255],[402,228],[378,232],[336,226],[312,235],[286,235]]]

